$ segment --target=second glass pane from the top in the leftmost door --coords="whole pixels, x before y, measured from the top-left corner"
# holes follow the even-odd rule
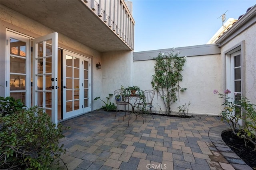
[[[26,73],[26,59],[10,57],[10,72]]]

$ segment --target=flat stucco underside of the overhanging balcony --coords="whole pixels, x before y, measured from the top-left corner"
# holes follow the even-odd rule
[[[0,3],[97,51],[131,50],[80,0],[0,0]]]

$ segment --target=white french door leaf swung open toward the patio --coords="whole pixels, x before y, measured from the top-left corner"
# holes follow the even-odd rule
[[[58,123],[58,33],[33,39],[33,106]]]

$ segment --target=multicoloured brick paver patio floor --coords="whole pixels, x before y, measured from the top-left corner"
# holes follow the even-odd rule
[[[154,115],[142,124],[132,115],[128,126],[128,117],[114,115],[99,110],[62,122],[70,127],[60,141],[68,170],[252,170],[222,141],[228,126],[220,117]]]

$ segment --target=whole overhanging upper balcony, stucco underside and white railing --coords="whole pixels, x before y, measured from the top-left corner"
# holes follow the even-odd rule
[[[124,0],[1,0],[0,4],[102,53],[134,49],[134,20]]]

